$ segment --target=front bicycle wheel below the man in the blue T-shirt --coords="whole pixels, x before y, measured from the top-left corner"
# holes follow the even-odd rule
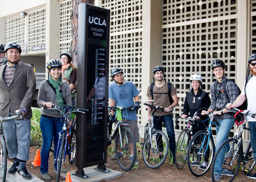
[[[118,141],[120,142],[120,135],[119,132],[117,132],[115,137],[115,156],[116,160],[118,162],[118,165],[121,167],[124,171],[129,171],[133,168],[133,165],[135,163],[137,153],[136,153],[136,142],[134,135],[130,128],[122,127],[121,128],[121,135],[122,135],[122,142],[123,147],[121,147],[121,151],[118,151]],[[133,160],[129,161],[130,158],[130,146],[133,145]]]

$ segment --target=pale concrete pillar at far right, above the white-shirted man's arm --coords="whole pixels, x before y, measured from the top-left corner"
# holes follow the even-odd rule
[[[248,38],[250,35],[248,32],[248,11],[247,8],[248,0],[237,1],[237,47],[236,47],[236,84],[243,88],[248,56]],[[250,11],[249,11],[250,12]]]

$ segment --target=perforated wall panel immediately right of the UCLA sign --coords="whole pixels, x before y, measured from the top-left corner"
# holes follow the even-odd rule
[[[111,9],[110,70],[122,68],[125,79],[141,92],[142,0],[103,0],[100,6]],[[141,123],[141,110],[138,121]]]

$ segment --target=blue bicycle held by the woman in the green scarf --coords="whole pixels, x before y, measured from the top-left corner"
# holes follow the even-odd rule
[[[71,115],[72,113],[78,113],[78,112],[85,114],[85,112],[88,112],[88,109],[80,109],[71,105],[62,105],[61,107],[58,107],[57,105],[53,105],[51,109],[55,109],[56,111],[61,112],[61,120],[63,123],[62,131],[59,132],[59,139],[58,139],[58,145],[57,145],[57,151],[59,150],[59,153],[56,153],[56,158],[55,158],[55,160],[57,160],[57,180],[56,181],[58,182],[59,176],[61,174],[63,162],[66,161],[66,154],[67,154],[67,151],[69,151],[68,150],[69,149],[68,148],[69,133],[67,132],[67,125],[72,120]]]

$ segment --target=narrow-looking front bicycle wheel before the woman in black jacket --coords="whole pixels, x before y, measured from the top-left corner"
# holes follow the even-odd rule
[[[178,136],[175,149],[175,161],[176,168],[182,170],[187,161],[187,151],[189,145],[189,130],[187,128],[183,129]]]

